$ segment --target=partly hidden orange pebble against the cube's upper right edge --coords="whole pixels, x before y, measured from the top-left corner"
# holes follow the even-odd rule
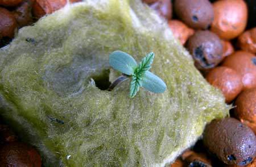
[[[184,45],[188,38],[195,32],[193,29],[189,28],[179,20],[169,20],[168,26],[171,28],[172,33],[177,39],[179,39],[182,45]]]

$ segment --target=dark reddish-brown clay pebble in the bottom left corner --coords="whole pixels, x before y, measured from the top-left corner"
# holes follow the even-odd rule
[[[34,147],[25,143],[10,143],[0,151],[0,166],[41,167],[39,153]]]

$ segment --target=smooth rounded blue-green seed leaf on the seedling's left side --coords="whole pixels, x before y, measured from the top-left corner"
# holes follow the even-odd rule
[[[109,64],[119,72],[128,76],[133,75],[137,62],[125,52],[114,51],[109,55]]]

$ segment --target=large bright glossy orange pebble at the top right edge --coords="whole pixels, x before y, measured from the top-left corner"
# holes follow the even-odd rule
[[[213,10],[214,20],[210,31],[222,39],[234,39],[245,30],[248,11],[243,0],[216,1]]]

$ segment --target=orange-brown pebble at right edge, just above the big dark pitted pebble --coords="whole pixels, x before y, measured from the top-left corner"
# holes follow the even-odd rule
[[[235,103],[234,114],[256,134],[256,88],[243,91]]]

